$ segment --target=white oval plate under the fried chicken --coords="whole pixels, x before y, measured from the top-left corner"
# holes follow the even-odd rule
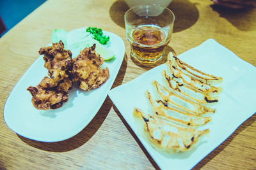
[[[57,110],[36,110],[31,103],[29,85],[36,86],[47,69],[44,59],[38,57],[13,88],[4,106],[4,120],[12,131],[36,141],[56,142],[75,136],[90,123],[105,101],[124,59],[124,41],[111,32],[108,48],[115,52],[115,59],[104,62],[109,68],[109,79],[98,89],[86,92],[73,87],[68,91],[67,103]]]

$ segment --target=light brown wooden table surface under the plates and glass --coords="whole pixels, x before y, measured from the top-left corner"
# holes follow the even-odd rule
[[[213,38],[256,66],[255,9],[226,10],[212,6],[210,0],[174,0],[168,8],[176,20],[167,52],[174,49],[179,55]],[[109,97],[83,131],[57,143],[19,136],[3,118],[8,95],[39,57],[39,48],[51,42],[56,28],[100,27],[124,40],[124,61],[113,87],[150,69],[130,57],[124,28],[126,10],[127,4],[120,0],[49,0],[0,39],[0,169],[159,169]],[[246,120],[194,168],[255,169],[255,119],[253,115]]]

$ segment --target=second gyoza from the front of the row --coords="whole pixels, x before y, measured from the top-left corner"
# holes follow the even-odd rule
[[[161,100],[152,99],[150,92],[147,90],[147,98],[152,106],[152,113],[158,115],[161,118],[174,122],[175,124],[198,126],[205,125],[212,120],[211,117],[202,117],[195,115],[173,106],[168,106]],[[154,114],[154,115],[155,115]]]

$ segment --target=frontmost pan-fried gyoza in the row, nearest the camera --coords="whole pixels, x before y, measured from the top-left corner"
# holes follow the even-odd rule
[[[134,108],[134,118],[154,148],[164,152],[184,152],[193,148],[200,136],[207,134],[209,129],[198,131],[191,127],[175,125],[157,115],[150,115]]]

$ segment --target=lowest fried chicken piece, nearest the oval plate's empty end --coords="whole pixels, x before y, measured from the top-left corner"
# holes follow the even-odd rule
[[[45,76],[36,87],[28,87],[32,95],[32,104],[38,110],[50,110],[60,108],[68,101],[68,90],[72,87],[72,81],[64,78],[58,85],[51,87],[52,79]]]

